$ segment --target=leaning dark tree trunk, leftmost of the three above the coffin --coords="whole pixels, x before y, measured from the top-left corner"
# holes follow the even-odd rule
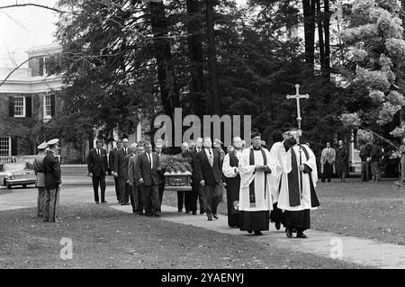
[[[167,22],[163,2],[149,2],[149,17],[153,32],[154,55],[157,60],[157,80],[166,115],[173,118],[179,106],[179,90],[175,80],[170,44],[167,38]]]

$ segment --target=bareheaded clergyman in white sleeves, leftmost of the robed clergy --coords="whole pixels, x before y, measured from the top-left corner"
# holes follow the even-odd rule
[[[227,205],[228,205],[228,225],[229,227],[239,227],[238,206],[240,175],[239,158],[242,155],[242,139],[233,139],[233,150],[225,155],[222,164],[222,173],[225,175],[227,184]]]

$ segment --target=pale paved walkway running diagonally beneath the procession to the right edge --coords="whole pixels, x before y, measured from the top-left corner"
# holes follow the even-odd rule
[[[130,206],[112,205],[111,207],[119,211],[132,212]],[[350,263],[377,268],[405,268],[404,246],[383,244],[374,240],[341,236],[332,232],[311,229],[305,231],[308,236],[306,239],[286,238],[284,231],[282,229],[277,231],[273,224],[271,224],[269,231],[264,232],[264,236],[256,237],[239,229],[229,228],[225,215],[220,215],[219,220],[208,221],[205,215],[189,215],[176,211],[177,209],[174,207],[162,206],[161,220],[249,238],[269,249],[273,247],[288,248],[297,252],[334,259],[341,258]]]

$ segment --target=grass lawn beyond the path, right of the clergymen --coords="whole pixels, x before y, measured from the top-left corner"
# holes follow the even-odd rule
[[[319,184],[320,209],[311,211],[311,228],[405,244],[405,187],[393,181],[362,183],[351,178]],[[176,193],[166,192],[164,203],[176,207]],[[227,214],[226,203],[220,203],[219,212]]]

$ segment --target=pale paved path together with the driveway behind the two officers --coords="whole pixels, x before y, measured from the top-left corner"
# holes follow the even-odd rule
[[[85,182],[85,179],[83,179]],[[75,186],[75,182],[65,181],[64,190],[60,194],[61,204],[75,202],[94,202],[93,188]],[[71,184],[71,185],[69,185]],[[107,185],[112,185],[109,181]],[[2,194],[3,193],[3,194]],[[37,190],[35,188],[15,188],[11,192],[0,190],[0,211],[27,208],[36,206]],[[115,194],[112,186],[107,188],[106,200],[109,206],[119,211],[131,212],[131,206],[121,206],[115,203]],[[22,203],[23,202],[23,203]],[[178,224],[192,225],[202,229],[211,229],[216,232],[231,234],[261,243],[266,248],[281,247],[292,251],[310,253],[316,256],[341,258],[347,262],[358,265],[370,265],[377,268],[405,268],[405,247],[393,244],[382,244],[374,240],[341,236],[331,232],[307,230],[309,238],[286,238],[284,231],[275,230],[273,224],[264,236],[255,237],[242,232],[239,229],[228,227],[227,217],[220,215],[219,220],[208,221],[205,215],[188,215],[177,213],[177,209],[162,206],[163,216],[159,220],[168,220]],[[341,251],[341,252],[339,252]],[[339,257],[341,256],[341,257]]]

